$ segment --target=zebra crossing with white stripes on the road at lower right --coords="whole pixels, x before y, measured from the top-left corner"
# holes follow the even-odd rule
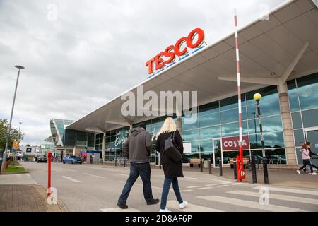
[[[234,185],[235,186],[232,186]],[[306,212],[318,210],[318,191],[309,189],[292,189],[278,186],[236,186],[235,182],[218,182],[213,184],[201,184],[184,187],[181,192],[188,202],[186,208],[180,210],[176,200],[169,199],[167,208],[172,212],[224,212],[224,211],[270,211],[270,212]],[[220,191],[222,185],[227,185],[228,188]],[[232,187],[231,187],[232,186]],[[223,187],[221,187],[223,188]],[[206,192],[211,189],[211,192]],[[213,190],[214,189],[214,190]],[[262,190],[268,191],[269,201],[266,203],[263,200]],[[258,190],[258,191],[257,191]],[[190,192],[192,191],[192,192]],[[208,195],[201,193],[206,192]],[[170,191],[171,192],[171,191]],[[171,198],[173,197],[170,196]],[[129,211],[121,210],[120,208],[101,209],[102,211]],[[130,208],[131,211],[144,211],[139,208]],[[158,206],[152,210],[158,211]]]

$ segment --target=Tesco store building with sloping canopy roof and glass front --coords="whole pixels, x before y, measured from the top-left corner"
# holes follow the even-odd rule
[[[213,165],[226,164],[238,153],[237,64],[235,35],[205,46],[204,31],[197,28],[172,40],[172,45],[146,61],[149,77],[126,93],[152,91],[197,92],[193,123],[173,117],[182,131],[184,162],[192,158],[209,159]],[[288,1],[238,32],[242,90],[242,133],[244,155],[254,150],[262,156],[259,119],[254,93],[262,95],[261,119],[264,148],[271,167],[297,167],[302,164],[301,141],[312,142],[318,153],[318,10],[317,1]],[[105,161],[122,156],[122,145],[129,129],[141,121],[156,133],[167,116],[123,115],[126,100],[115,97],[66,130],[95,134],[95,150]],[[147,100],[143,100],[143,104]],[[143,105],[146,106],[146,105]],[[136,112],[138,111],[136,106]],[[162,109],[161,109],[162,110]],[[187,110],[182,106],[182,112]],[[158,109],[160,112],[160,109]],[[73,154],[78,155],[74,148]],[[318,165],[318,160],[312,160]],[[160,164],[155,148],[151,162]]]

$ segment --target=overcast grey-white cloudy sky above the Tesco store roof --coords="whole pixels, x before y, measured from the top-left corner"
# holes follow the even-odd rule
[[[212,44],[283,0],[0,0],[0,118],[23,143],[50,135],[49,119],[79,119],[148,76],[145,62],[194,28]]]

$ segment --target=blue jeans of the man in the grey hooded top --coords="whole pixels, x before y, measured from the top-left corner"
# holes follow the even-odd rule
[[[141,177],[143,181],[143,197],[146,199],[147,203],[153,200],[153,191],[151,190],[151,167],[149,162],[145,163],[135,163],[130,162],[130,174],[126,181],[124,189],[122,189],[122,194],[118,199],[118,203],[126,204],[127,198],[129,196],[130,190],[136,179]]]

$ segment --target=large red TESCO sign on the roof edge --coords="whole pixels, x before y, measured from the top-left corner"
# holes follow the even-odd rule
[[[195,37],[197,38],[195,39]],[[180,38],[175,42],[175,45],[168,46],[163,52],[149,59],[146,62],[148,73],[152,74],[154,71],[163,69],[167,64],[174,64],[176,56],[183,59],[183,56],[186,56],[190,50],[200,48],[203,43],[204,31],[201,28],[192,30],[187,37]]]

